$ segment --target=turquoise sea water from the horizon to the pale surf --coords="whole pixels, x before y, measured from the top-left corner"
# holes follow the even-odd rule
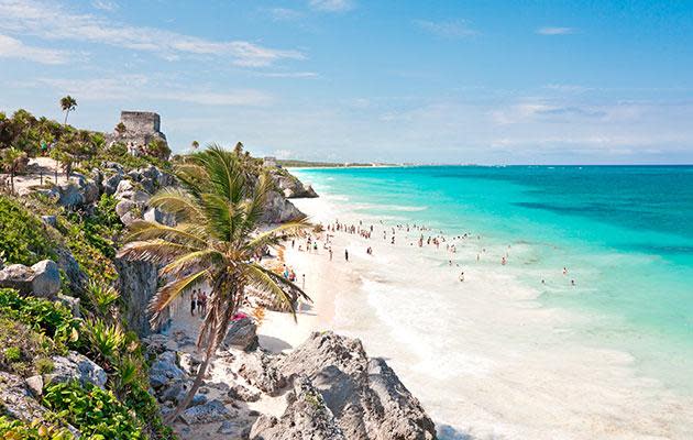
[[[693,393],[693,167],[299,169],[358,212],[481,234],[521,252],[520,282],[584,314],[581,342],[625,350]],[[563,267],[578,287],[566,286]],[[546,279],[546,285],[541,284]]]

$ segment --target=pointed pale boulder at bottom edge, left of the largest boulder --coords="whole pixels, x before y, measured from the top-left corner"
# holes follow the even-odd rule
[[[251,440],[345,440],[345,436],[320,393],[306,377],[294,382],[288,405],[280,418],[260,416],[250,431]]]

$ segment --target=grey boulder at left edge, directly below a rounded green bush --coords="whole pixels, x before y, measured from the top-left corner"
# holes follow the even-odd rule
[[[18,289],[24,295],[53,298],[61,290],[61,272],[52,260],[43,260],[31,267],[12,264],[0,271],[0,287]]]

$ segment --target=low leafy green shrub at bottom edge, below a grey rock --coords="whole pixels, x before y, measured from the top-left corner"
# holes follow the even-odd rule
[[[77,428],[85,438],[143,439],[141,424],[111,393],[96,385],[63,383],[48,385],[42,404],[56,418]]]

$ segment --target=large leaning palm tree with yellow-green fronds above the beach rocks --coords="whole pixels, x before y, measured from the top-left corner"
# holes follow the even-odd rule
[[[200,324],[198,348],[206,348],[193,387],[168,417],[174,421],[202,384],[207,367],[229,324],[252,286],[286,302],[294,319],[298,298],[306,294],[280,275],[253,258],[266,246],[276,246],[280,235],[298,233],[306,220],[284,223],[256,232],[267,194],[273,189],[268,175],[248,178],[239,158],[217,145],[186,157],[176,166],[180,188],[164,188],[150,205],[173,213],[177,226],[138,221],[131,226],[129,242],[119,255],[163,265],[163,286],[150,302],[152,323],[183,293],[206,280],[211,287],[209,308]]]

